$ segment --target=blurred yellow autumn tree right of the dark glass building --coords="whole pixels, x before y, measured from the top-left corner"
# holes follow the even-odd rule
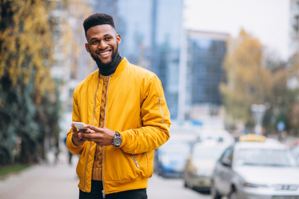
[[[296,68],[296,64],[291,68]],[[275,130],[278,120],[283,120],[287,128],[292,128],[289,121],[292,114],[298,114],[292,111],[298,89],[290,89],[288,82],[290,74],[294,74],[292,71],[298,70],[290,70],[276,55],[267,54],[259,40],[245,30],[240,31],[238,38],[228,41],[223,67],[227,81],[221,83],[220,91],[228,114],[253,125],[251,104],[264,104],[267,107],[265,127]]]

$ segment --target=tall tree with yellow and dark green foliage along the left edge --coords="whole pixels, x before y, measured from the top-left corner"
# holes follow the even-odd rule
[[[0,164],[13,162],[18,137],[19,160],[35,162],[42,156],[38,149],[45,134],[59,130],[58,110],[48,110],[58,103],[50,75],[54,22],[49,13],[54,3],[0,2]],[[54,121],[48,118],[50,114]]]

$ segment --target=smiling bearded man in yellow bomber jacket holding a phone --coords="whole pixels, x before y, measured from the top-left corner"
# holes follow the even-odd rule
[[[158,77],[121,58],[112,16],[83,23],[87,52],[97,63],[74,90],[73,121],[66,144],[80,155],[79,198],[147,198],[154,150],[169,139],[170,114]]]

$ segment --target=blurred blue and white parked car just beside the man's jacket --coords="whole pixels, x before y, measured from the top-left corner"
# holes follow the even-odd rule
[[[163,177],[182,177],[190,144],[186,141],[168,141],[155,150],[154,172]]]

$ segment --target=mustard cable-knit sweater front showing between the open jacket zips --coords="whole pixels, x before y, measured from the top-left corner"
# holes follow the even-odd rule
[[[107,94],[106,92],[107,92],[108,80],[110,77],[112,77],[112,75],[103,76],[100,74],[100,79],[103,79],[103,91],[101,97],[100,122],[99,122],[100,128],[104,127],[105,105],[106,105],[106,94]],[[103,146],[97,145],[94,154],[94,163],[92,166],[92,174],[91,174],[92,180],[102,180],[102,164],[103,164],[102,152],[103,152]]]

